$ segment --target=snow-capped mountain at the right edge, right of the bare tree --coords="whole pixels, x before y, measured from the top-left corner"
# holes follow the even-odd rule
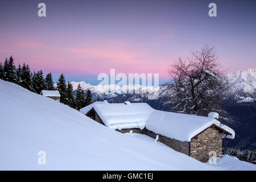
[[[228,78],[230,81],[229,98],[236,102],[256,100],[256,68],[230,73]]]

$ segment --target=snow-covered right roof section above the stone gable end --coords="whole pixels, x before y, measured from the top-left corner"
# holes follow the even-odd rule
[[[146,129],[169,138],[189,142],[201,131],[212,125],[216,125],[232,134],[228,135],[228,138],[234,138],[234,130],[226,125],[222,125],[214,118],[160,110],[154,110],[154,112],[150,114],[146,122]],[[223,135],[223,137],[225,136],[226,135]]]

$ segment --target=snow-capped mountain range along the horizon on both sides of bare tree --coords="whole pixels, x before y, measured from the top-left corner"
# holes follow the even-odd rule
[[[256,68],[248,68],[229,73],[227,77],[230,81],[230,88],[228,93],[226,93],[227,98],[236,102],[251,102],[256,100]],[[118,85],[90,85],[84,81],[71,81],[71,84],[74,91],[79,84],[84,90],[90,89],[94,100],[97,100],[97,97],[100,100],[117,97],[117,100],[121,102],[125,100],[139,102],[147,100],[147,94],[141,92],[147,89],[146,86],[128,85],[128,88],[130,86],[134,90],[134,93],[128,93],[127,89],[123,89],[122,86]],[[113,91],[110,91],[110,89],[113,89]],[[160,86],[159,99],[162,100],[162,98],[164,99],[166,97],[170,97],[170,92],[168,92],[166,86]]]

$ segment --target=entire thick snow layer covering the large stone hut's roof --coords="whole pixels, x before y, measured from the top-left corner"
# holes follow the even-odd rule
[[[80,110],[86,114],[90,109],[96,110],[102,122],[112,129],[139,128],[154,131],[169,138],[181,141],[190,141],[201,131],[214,125],[234,138],[234,131],[226,125],[222,125],[217,118],[217,113],[209,114],[209,117],[197,115],[171,113],[155,110],[146,103],[108,104],[108,102],[94,102]],[[214,118],[213,118],[214,117]],[[226,137],[223,134],[222,137]]]

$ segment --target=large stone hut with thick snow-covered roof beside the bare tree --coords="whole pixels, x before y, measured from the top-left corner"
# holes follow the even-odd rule
[[[94,102],[81,113],[95,121],[127,133],[148,135],[174,150],[207,162],[213,154],[222,157],[222,140],[234,138],[234,131],[217,121],[217,113],[208,117],[171,113],[152,109],[146,103],[108,104]]]

